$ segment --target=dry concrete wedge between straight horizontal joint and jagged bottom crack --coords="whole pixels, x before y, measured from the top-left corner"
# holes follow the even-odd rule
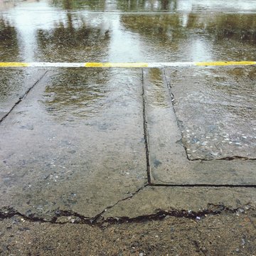
[[[150,199],[149,199],[150,198]],[[215,210],[256,207],[255,188],[209,188],[209,187],[146,187],[132,198],[119,202],[102,217],[137,218],[166,211],[166,214],[182,216],[184,212],[213,213]]]

